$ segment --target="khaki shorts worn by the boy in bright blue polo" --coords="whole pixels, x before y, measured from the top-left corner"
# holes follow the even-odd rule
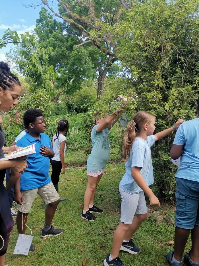
[[[32,202],[37,194],[40,195],[45,204],[57,201],[60,198],[52,182],[45,186],[41,186],[40,188],[21,190],[21,194],[23,196],[24,210],[22,205],[18,205],[18,210],[24,213],[30,212]]]

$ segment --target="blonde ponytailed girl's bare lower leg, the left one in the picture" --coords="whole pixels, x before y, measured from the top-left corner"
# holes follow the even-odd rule
[[[119,222],[113,235],[113,245],[111,250],[112,259],[115,259],[119,255],[120,247],[130,226],[130,224],[123,224],[121,221]]]

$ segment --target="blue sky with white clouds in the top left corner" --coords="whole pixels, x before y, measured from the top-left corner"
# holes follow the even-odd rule
[[[25,31],[31,32],[36,25],[36,19],[39,18],[41,6],[26,8],[22,4],[34,3],[34,0],[1,0],[0,10],[0,39],[7,28],[17,31],[18,34]],[[39,1],[37,1],[39,2]],[[13,46],[12,46],[13,47]],[[4,60],[4,53],[8,52],[11,45],[8,44],[7,48],[0,49],[0,61]]]

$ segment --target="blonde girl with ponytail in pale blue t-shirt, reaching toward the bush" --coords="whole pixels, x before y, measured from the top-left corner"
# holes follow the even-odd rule
[[[158,198],[149,188],[154,183],[151,147],[154,142],[177,129],[184,120],[178,120],[173,127],[153,135],[156,117],[146,111],[139,111],[128,123],[124,137],[123,159],[126,172],[119,184],[122,198],[121,218],[113,235],[111,254],[104,265],[124,266],[119,251],[137,254],[141,251],[132,241],[132,235],[147,218],[148,211],[144,193],[149,197],[151,206],[160,206]],[[136,215],[135,215],[136,214]]]

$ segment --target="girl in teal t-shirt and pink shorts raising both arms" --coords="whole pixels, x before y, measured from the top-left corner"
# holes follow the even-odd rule
[[[99,112],[94,114],[94,116],[97,115],[99,115]],[[86,221],[96,220],[96,217],[92,214],[93,212],[103,212],[94,205],[94,196],[110,157],[109,130],[117,122],[118,115],[119,109],[113,115],[96,119],[91,131],[92,151],[87,160],[88,184],[84,193],[84,210],[82,210],[82,219]]]

